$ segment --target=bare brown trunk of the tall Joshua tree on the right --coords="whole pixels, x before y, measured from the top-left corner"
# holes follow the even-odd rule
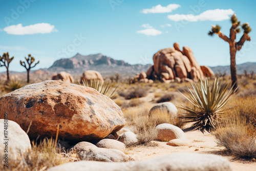
[[[237,49],[235,45],[231,44],[230,45],[230,73],[231,73],[232,85],[234,86],[235,89],[238,87],[236,53],[237,53]]]

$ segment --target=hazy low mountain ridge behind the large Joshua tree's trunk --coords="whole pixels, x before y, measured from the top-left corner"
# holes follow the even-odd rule
[[[227,74],[230,74],[230,66],[217,66],[217,67],[210,67],[214,73],[222,73],[226,71]],[[254,71],[256,73],[256,62],[246,62],[237,65],[237,74],[244,74],[244,70],[247,70],[247,73]]]

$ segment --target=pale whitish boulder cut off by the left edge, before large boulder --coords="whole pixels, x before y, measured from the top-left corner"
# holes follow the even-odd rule
[[[0,108],[2,111],[2,108]],[[28,135],[14,121],[9,119],[8,113],[5,114],[6,119],[0,119],[0,157],[1,161],[8,164],[8,158],[16,159],[20,155],[31,150],[31,144]],[[7,158],[5,158],[7,155]]]

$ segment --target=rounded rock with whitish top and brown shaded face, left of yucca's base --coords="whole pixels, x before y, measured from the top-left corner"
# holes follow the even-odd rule
[[[157,140],[170,141],[173,139],[185,139],[185,133],[178,127],[169,123],[162,123],[156,126],[159,131]]]

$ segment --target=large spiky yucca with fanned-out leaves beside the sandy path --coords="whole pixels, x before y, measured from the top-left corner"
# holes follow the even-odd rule
[[[216,129],[217,124],[223,114],[223,106],[235,94],[237,89],[233,89],[231,82],[222,84],[219,78],[211,83],[209,78],[191,83],[195,93],[187,88],[187,91],[181,93],[194,108],[189,106],[180,107],[187,113],[181,118],[184,122],[195,122],[191,129],[211,132]],[[231,88],[231,89],[229,89]]]

